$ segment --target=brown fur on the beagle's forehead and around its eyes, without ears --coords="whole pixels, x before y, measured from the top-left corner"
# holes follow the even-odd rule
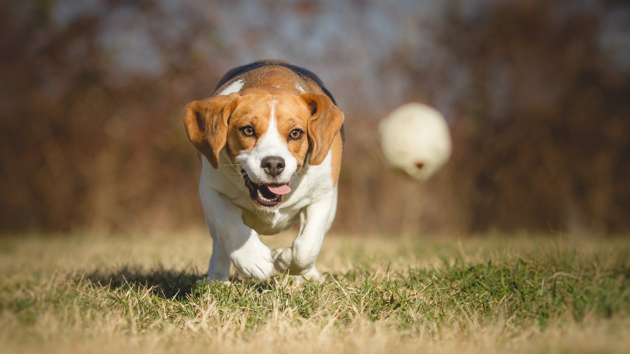
[[[228,120],[227,154],[232,163],[241,151],[251,150],[268,132],[272,115],[280,139],[298,163],[304,164],[308,151],[307,123],[311,111],[294,91],[279,88],[245,89]]]

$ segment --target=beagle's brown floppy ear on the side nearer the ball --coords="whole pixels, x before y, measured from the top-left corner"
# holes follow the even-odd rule
[[[311,110],[311,119],[306,128],[311,144],[309,164],[318,165],[328,155],[333,139],[341,129],[343,113],[325,94],[302,93],[300,96]]]

